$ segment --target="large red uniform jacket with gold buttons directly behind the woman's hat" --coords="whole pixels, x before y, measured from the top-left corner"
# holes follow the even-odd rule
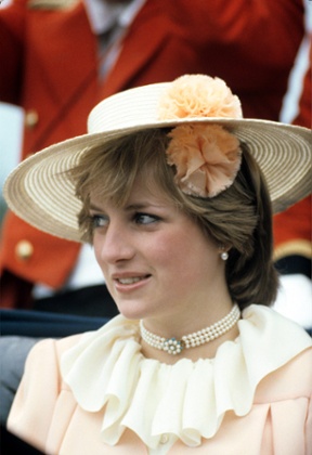
[[[23,158],[83,134],[101,99],[187,73],[221,77],[240,98],[245,117],[276,120],[304,32],[301,0],[146,0],[100,83],[98,38],[82,2],[48,3],[15,0],[0,10],[0,99],[25,108]],[[5,300],[5,273],[14,277],[13,287],[8,282],[13,294],[23,289],[15,276],[57,288],[78,253],[78,244],[43,234],[9,212],[1,242],[2,306],[22,303],[21,296]]]

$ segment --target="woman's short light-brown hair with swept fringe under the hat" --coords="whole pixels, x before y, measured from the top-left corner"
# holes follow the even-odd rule
[[[166,160],[168,129],[151,129],[112,140],[87,151],[70,171],[82,202],[79,226],[92,243],[90,193],[126,204],[134,181],[156,184],[173,204],[219,246],[230,248],[225,268],[230,294],[240,309],[250,303],[271,304],[277,292],[273,264],[272,209],[262,172],[245,144],[234,183],[212,198],[184,194],[174,182],[174,168]]]

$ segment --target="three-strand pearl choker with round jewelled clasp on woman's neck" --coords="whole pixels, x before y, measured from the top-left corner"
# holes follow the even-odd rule
[[[161,351],[166,351],[168,354],[177,355],[180,354],[184,348],[196,348],[197,346],[205,344],[206,342],[221,337],[221,335],[229,332],[237,323],[239,317],[240,311],[237,303],[235,303],[231,312],[225,317],[209,327],[204,328],[203,330],[184,335],[181,340],[177,340],[173,337],[162,338],[158,335],[152,334],[152,332],[148,332],[144,327],[142,320],[140,321],[140,330],[142,339],[147,344]]]

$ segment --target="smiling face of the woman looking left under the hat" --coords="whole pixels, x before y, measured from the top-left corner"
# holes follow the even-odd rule
[[[125,207],[92,197],[93,246],[129,318],[186,315],[226,287],[218,247],[159,190],[138,181]]]

